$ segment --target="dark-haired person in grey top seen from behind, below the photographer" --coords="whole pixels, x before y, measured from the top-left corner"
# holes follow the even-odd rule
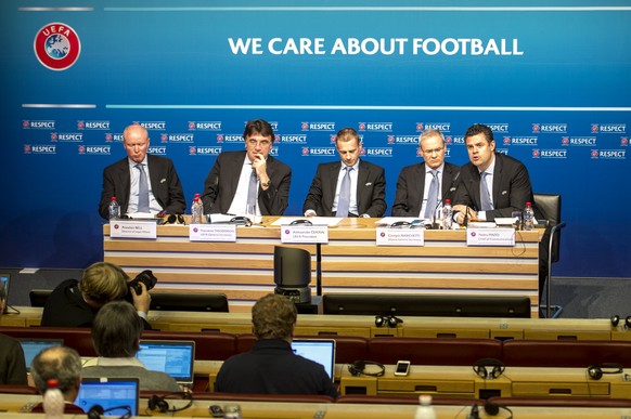
[[[181,391],[172,377],[147,370],[136,357],[141,333],[142,322],[131,304],[112,301],[103,305],[92,326],[99,357],[83,368],[83,377],[138,378],[141,391]]]

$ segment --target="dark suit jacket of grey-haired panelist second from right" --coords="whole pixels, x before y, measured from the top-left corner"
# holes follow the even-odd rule
[[[453,179],[460,172],[460,167],[445,162],[442,171],[442,199],[453,199],[454,191],[450,191]],[[394,217],[418,217],[425,193],[425,163],[416,163],[401,169],[397,181],[397,194],[392,205]],[[456,187],[458,185],[453,185]]]

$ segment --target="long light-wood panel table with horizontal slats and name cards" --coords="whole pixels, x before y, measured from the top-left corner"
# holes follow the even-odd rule
[[[103,225],[104,260],[158,277],[156,291],[222,292],[230,311],[249,311],[273,292],[274,246],[308,250],[316,291],[316,245],[281,244],[278,217],[237,226],[236,243],[191,241],[188,225],[158,225],[156,239],[114,238]],[[321,245],[322,290],[362,293],[527,296],[539,305],[542,230],[516,232],[514,247],[466,245],[466,231],[425,231],[425,246],[376,246],[377,219],[343,219]]]

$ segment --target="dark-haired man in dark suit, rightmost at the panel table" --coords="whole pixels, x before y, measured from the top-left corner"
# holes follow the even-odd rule
[[[493,132],[476,123],[464,134],[469,162],[460,170],[461,184],[454,198],[456,221],[494,221],[511,218],[532,202],[532,187],[526,166],[513,157],[495,153]],[[485,184],[481,179],[485,178]],[[486,196],[486,198],[485,198]]]

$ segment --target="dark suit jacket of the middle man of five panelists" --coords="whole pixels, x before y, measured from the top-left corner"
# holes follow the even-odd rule
[[[316,176],[302,206],[302,213],[313,210],[320,217],[333,217],[333,201],[337,178],[342,170],[339,161],[318,165]],[[384,168],[359,160],[357,178],[357,209],[359,214],[384,217],[386,212],[386,178]]]

